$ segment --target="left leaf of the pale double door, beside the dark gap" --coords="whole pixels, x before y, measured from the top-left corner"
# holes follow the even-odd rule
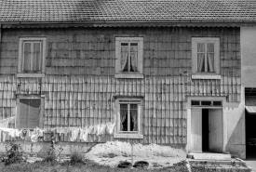
[[[191,109],[191,151],[202,152],[202,109]]]

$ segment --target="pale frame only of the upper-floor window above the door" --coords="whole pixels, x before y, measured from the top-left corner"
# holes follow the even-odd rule
[[[214,44],[214,73],[198,72],[197,67],[197,44]],[[216,37],[193,37],[192,38],[192,79],[221,79],[220,75],[220,38]]]

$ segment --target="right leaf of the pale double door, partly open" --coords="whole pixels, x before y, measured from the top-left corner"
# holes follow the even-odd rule
[[[222,109],[209,109],[209,151],[222,152]]]

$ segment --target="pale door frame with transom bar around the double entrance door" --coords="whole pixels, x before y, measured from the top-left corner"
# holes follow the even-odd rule
[[[222,152],[225,152],[227,144],[227,112],[226,112],[226,97],[187,97],[187,145],[186,151],[191,152],[191,100],[222,100],[221,107],[193,107],[199,109],[222,109]]]

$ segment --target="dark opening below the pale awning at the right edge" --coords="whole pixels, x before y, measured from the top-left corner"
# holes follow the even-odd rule
[[[256,114],[246,111],[246,156],[247,159],[256,157]]]

